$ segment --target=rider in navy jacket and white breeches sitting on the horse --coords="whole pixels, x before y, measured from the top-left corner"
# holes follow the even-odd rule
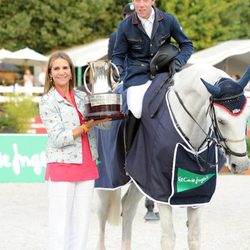
[[[178,72],[190,58],[194,47],[177,19],[154,6],[155,0],[132,0],[135,12],[118,26],[112,62],[120,74],[124,71],[123,88],[127,90],[128,118],[125,123],[125,146],[128,152],[141,117],[142,100],[152,82],[150,61],[163,44],[173,38],[179,54],[170,62],[171,74]],[[117,78],[114,72],[114,78]]]

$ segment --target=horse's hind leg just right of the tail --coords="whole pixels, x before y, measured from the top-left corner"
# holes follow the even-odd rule
[[[122,250],[131,249],[132,223],[142,193],[132,183],[122,198]]]

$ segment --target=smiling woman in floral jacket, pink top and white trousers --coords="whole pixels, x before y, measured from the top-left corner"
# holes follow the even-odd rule
[[[98,178],[93,126],[84,122],[84,92],[74,90],[71,59],[54,53],[48,62],[40,116],[48,133],[45,179],[49,193],[49,249],[86,249],[94,180]],[[108,127],[99,125],[99,127]],[[110,125],[110,124],[109,124]]]

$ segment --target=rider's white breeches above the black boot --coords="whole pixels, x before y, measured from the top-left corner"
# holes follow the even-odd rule
[[[128,110],[130,110],[137,119],[141,118],[143,97],[151,82],[152,81],[148,80],[144,84],[131,86],[127,90]]]

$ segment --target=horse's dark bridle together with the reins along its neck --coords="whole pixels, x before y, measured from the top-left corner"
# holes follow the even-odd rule
[[[181,104],[181,106],[183,107],[183,109],[186,111],[186,113],[190,116],[190,118],[198,125],[198,127],[203,131],[203,133],[206,135],[206,139],[205,141],[214,141],[214,138],[212,138],[206,131],[204,131],[204,129],[200,126],[200,124],[195,120],[195,118],[192,116],[192,114],[188,111],[188,109],[185,107],[182,99],[180,98],[179,94],[174,91],[179,103]],[[239,142],[242,142],[245,140],[245,138],[242,138],[240,140],[232,140],[232,139],[229,139],[229,138],[225,138],[222,136],[222,133],[219,129],[219,126],[218,126],[218,120],[217,120],[217,117],[216,117],[216,114],[215,114],[215,109],[214,109],[214,103],[218,100],[222,101],[222,100],[232,100],[232,99],[235,99],[239,96],[242,96],[243,93],[239,94],[239,95],[235,95],[235,96],[231,96],[231,97],[227,97],[227,98],[220,98],[220,99],[217,99],[217,98],[213,98],[211,97],[210,98],[210,105],[208,107],[208,112],[210,114],[210,117],[211,117],[211,120],[212,120],[212,126],[213,126],[213,130],[214,130],[214,133],[215,133],[215,136],[217,138],[217,142],[216,144],[220,147],[223,147],[226,154],[228,155],[234,155],[234,156],[237,156],[237,157],[245,157],[247,155],[247,152],[244,152],[244,153],[238,153],[238,152],[235,152],[233,150],[231,150],[229,148],[229,146],[227,145],[226,142],[231,142],[231,143],[239,143]],[[180,127],[178,127],[180,128]],[[182,134],[184,135],[185,138],[187,138],[187,136],[183,133],[183,131],[181,131]],[[202,143],[204,144],[204,142]]]

